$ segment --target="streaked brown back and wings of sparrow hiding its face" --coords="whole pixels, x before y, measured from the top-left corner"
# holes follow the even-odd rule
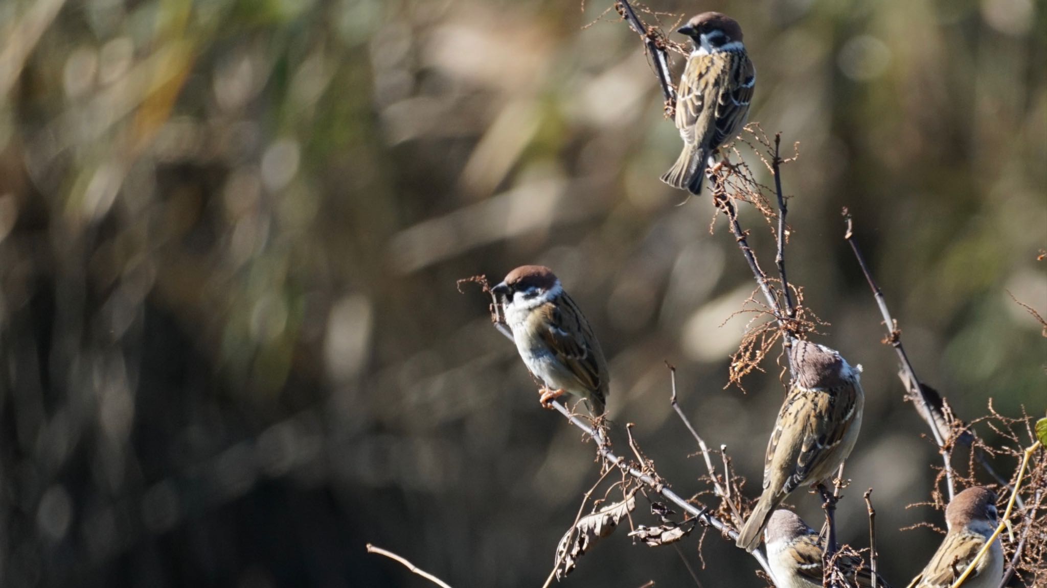
[[[763,462],[764,488],[780,483],[779,494],[788,494],[830,474],[823,471],[826,460],[854,424],[855,386],[857,384],[841,386],[834,393],[797,386],[789,389],[767,444]],[[788,477],[775,480],[775,473]],[[812,475],[819,479],[814,479]]]

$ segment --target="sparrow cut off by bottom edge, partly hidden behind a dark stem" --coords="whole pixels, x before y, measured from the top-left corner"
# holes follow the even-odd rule
[[[779,588],[821,588],[825,542],[793,511],[779,508],[763,532],[767,565]],[[850,586],[872,586],[872,574],[861,558],[841,556],[837,565]],[[877,574],[876,586],[890,588]]]

